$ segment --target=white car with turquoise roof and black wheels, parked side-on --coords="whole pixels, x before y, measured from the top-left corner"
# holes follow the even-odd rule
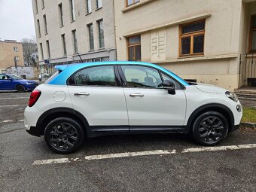
[[[75,151],[85,137],[134,133],[192,133],[217,145],[239,127],[242,106],[221,87],[187,83],[146,62],[56,66],[33,90],[26,131],[44,136],[57,153]]]

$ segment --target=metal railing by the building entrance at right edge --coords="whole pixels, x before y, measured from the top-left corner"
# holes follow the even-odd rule
[[[256,55],[240,54],[239,87],[256,87]]]

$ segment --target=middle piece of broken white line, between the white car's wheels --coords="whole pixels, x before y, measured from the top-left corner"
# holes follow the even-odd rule
[[[176,151],[172,150],[171,152],[166,150],[157,150],[157,151],[140,151],[140,152],[127,152],[120,154],[99,154],[91,155],[84,157],[85,160],[102,160],[102,159],[111,159],[119,157],[134,157],[134,156],[145,156],[145,155],[154,155],[154,154],[175,154]]]

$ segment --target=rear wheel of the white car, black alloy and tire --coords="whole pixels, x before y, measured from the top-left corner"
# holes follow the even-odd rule
[[[56,153],[69,154],[84,141],[84,129],[76,120],[59,117],[51,120],[44,130],[44,140]]]

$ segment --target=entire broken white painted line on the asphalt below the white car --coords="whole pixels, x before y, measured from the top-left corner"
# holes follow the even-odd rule
[[[201,152],[201,151],[225,151],[225,150],[238,150],[238,149],[248,149],[248,148],[256,148],[256,144],[228,145],[228,146],[206,147],[206,148],[185,148],[181,152],[178,152],[175,149],[173,149],[172,151],[156,150],[156,151],[126,152],[126,153],[119,153],[119,154],[99,154],[99,155],[85,156],[84,160],[103,160],[103,159],[112,159],[112,158],[120,158],[120,157],[136,157],[136,156],[163,155],[163,154],[184,154],[184,153],[194,153],[194,152]],[[45,165],[45,164],[53,164],[53,163],[71,163],[72,161],[80,162],[82,160],[79,158],[35,160],[33,165]]]

